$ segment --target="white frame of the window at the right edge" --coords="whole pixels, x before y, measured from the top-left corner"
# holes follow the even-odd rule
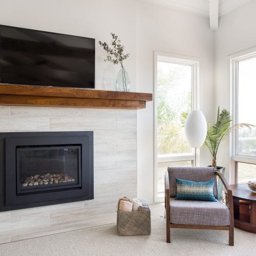
[[[229,65],[229,84],[230,84],[230,114],[232,116],[232,125],[238,123],[238,62],[256,58],[256,47],[228,56]],[[238,162],[256,164],[256,157],[247,157],[238,155],[238,131],[230,133],[229,145],[229,181],[231,184],[237,184]]]

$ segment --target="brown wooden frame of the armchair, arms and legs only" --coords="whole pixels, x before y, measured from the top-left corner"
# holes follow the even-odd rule
[[[230,225],[229,226],[206,226],[206,225],[188,225],[188,224],[174,224],[170,222],[170,188],[169,188],[169,175],[165,173],[165,218],[166,218],[166,243],[170,243],[170,228],[193,228],[193,229],[215,229],[215,230],[228,230],[229,231],[229,245],[234,245],[234,214],[233,214],[233,197],[232,190],[227,183],[222,173],[215,172],[227,191],[227,206],[230,211]]]

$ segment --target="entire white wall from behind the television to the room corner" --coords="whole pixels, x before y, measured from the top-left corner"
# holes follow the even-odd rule
[[[117,67],[103,61],[98,40],[121,37],[131,57],[131,91],[153,93],[153,51],[200,59],[201,110],[212,119],[213,33],[208,19],[137,0],[0,0],[0,24],[96,38],[96,89],[114,89]],[[111,74],[111,75],[110,75]],[[138,196],[153,202],[153,102],[137,112]],[[202,165],[210,163],[202,151]]]

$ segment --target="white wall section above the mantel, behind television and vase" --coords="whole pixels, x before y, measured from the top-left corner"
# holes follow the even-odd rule
[[[125,50],[131,53],[124,65],[131,76],[131,91],[136,91],[134,6],[135,0],[0,0],[0,24],[95,38],[95,83],[98,90],[111,89],[104,88],[104,70],[113,71],[116,77],[115,72],[119,69],[103,61],[106,53],[98,41],[110,42],[110,33],[116,33]],[[112,90],[115,90],[114,84]]]

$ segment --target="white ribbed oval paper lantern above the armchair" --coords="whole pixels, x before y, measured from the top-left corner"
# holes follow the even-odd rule
[[[185,136],[191,147],[203,145],[207,134],[207,123],[202,111],[191,111],[185,121]]]

